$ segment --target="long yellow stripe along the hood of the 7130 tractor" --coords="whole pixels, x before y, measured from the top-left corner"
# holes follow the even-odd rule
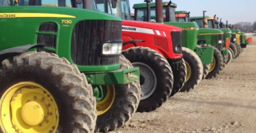
[[[0,18],[76,18],[76,16],[45,13],[0,13]]]

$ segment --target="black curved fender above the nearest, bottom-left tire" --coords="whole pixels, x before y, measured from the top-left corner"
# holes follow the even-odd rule
[[[25,53],[27,50],[32,48],[44,48],[44,44],[28,44],[24,46],[16,46],[14,48],[8,48],[5,50],[0,50],[0,61],[14,57],[16,55],[20,55],[21,53]]]

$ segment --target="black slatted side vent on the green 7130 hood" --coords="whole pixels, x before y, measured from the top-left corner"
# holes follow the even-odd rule
[[[39,27],[40,32],[45,33],[56,33],[57,24],[56,23],[42,23]],[[45,44],[46,48],[56,48],[56,35],[48,34],[38,34],[38,44]],[[46,50],[44,48],[38,48],[38,52],[44,51],[47,53],[55,53],[51,50]]]

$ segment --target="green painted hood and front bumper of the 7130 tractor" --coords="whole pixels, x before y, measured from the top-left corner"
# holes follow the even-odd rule
[[[53,22],[57,24],[57,33],[46,32],[43,34],[56,35],[56,48],[44,48],[55,52],[59,57],[65,57],[72,61],[70,49],[72,41],[72,31],[74,25],[82,20],[116,20],[122,19],[106,14],[104,12],[97,12],[92,10],[82,10],[77,8],[63,8],[63,7],[46,7],[46,6],[12,6],[0,7],[0,14],[16,14],[16,18],[0,18],[0,50],[12,48],[16,46],[23,46],[26,44],[37,44],[38,34],[41,23]],[[36,13],[35,17],[21,17],[17,13]],[[44,16],[38,17],[40,14],[60,14],[68,16]],[[63,24],[62,20],[71,20],[72,23]],[[70,22],[71,22],[70,21]],[[121,29],[120,29],[121,30]],[[34,48],[33,50],[36,50]],[[29,50],[31,51],[31,50]],[[128,70],[119,69],[119,64],[114,65],[78,65],[81,72],[85,72],[88,83],[92,85],[116,85],[127,84],[134,80],[139,80],[139,68],[131,68]],[[97,92],[95,92],[96,95]]]

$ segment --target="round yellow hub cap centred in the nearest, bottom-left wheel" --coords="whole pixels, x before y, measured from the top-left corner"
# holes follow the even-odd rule
[[[38,102],[31,101],[21,110],[23,120],[29,125],[38,125],[44,120],[44,109]]]

